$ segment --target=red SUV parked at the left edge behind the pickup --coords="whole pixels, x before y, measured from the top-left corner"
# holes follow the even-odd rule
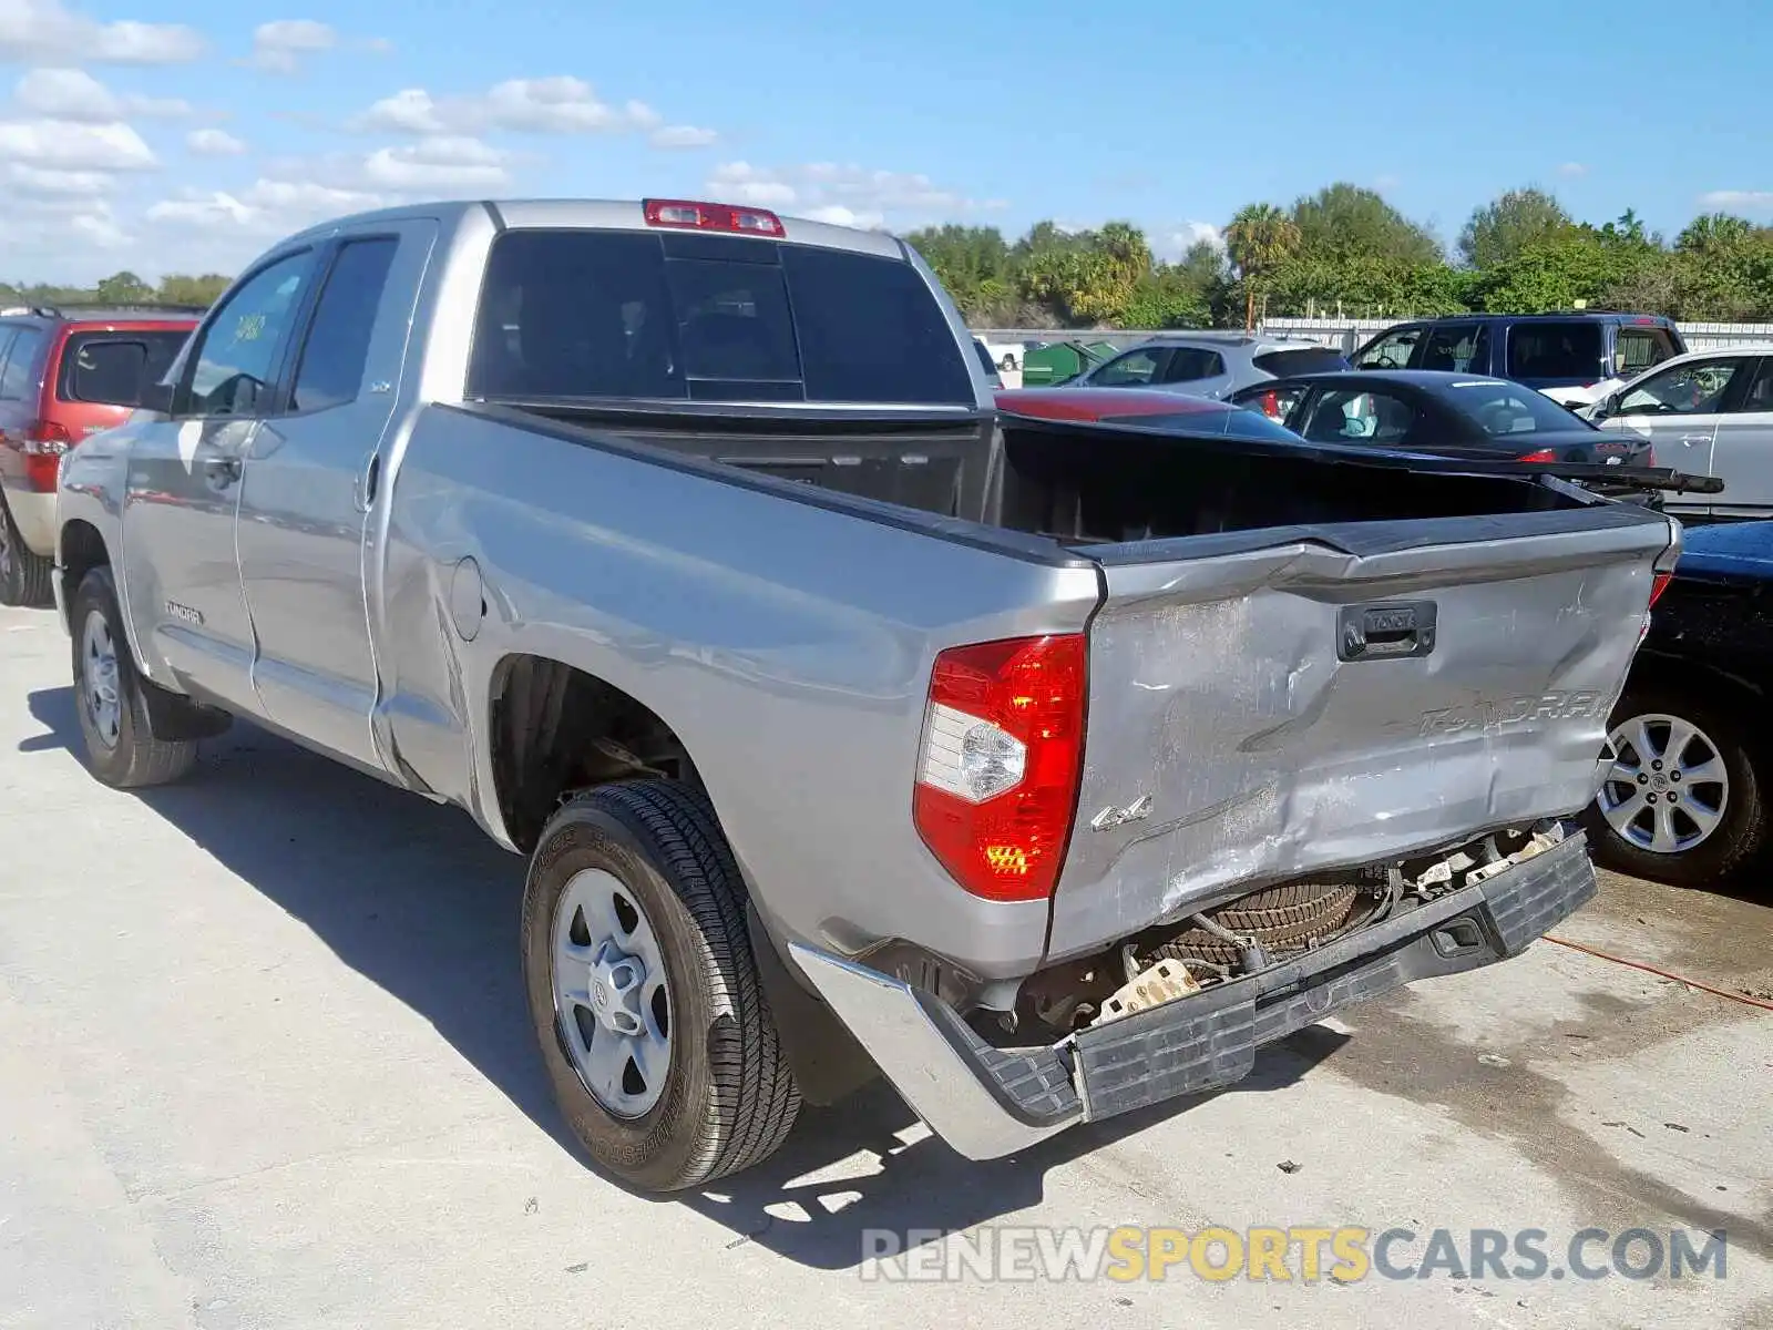
[[[0,310],[0,605],[48,605],[55,473],[87,434],[121,426],[200,309]]]

